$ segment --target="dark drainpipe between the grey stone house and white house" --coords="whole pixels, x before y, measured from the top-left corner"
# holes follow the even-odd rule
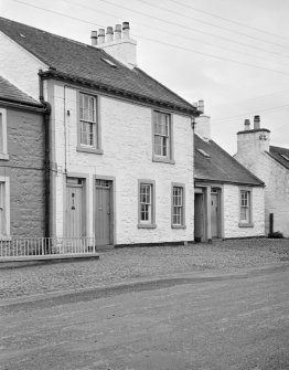
[[[39,89],[40,89],[40,96],[39,99],[43,104],[45,113],[43,116],[43,123],[44,123],[44,172],[45,172],[45,232],[44,236],[50,237],[51,231],[50,231],[50,184],[51,184],[51,178],[50,178],[50,116],[51,116],[51,104],[46,101],[44,101],[43,95],[43,78],[42,78],[42,70],[39,71]]]

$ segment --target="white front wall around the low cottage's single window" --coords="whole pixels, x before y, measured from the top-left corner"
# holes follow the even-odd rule
[[[264,188],[251,188],[253,228],[239,228],[239,187],[224,186],[224,237],[264,236],[265,204]]]

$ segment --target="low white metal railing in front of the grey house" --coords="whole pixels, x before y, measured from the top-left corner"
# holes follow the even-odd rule
[[[15,237],[0,240],[0,257],[95,253],[94,237]]]

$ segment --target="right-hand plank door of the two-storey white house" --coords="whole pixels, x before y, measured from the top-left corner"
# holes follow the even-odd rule
[[[113,181],[95,180],[95,244],[113,244]]]

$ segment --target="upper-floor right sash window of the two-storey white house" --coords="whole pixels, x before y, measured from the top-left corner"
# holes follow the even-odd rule
[[[164,119],[158,120],[158,117],[164,117]],[[156,128],[163,124],[164,130],[157,130]],[[161,138],[163,144],[161,148],[167,148],[165,152],[157,152],[159,145],[156,144],[157,138]],[[173,125],[172,115],[168,112],[152,110],[152,161],[167,162],[174,165],[173,159]]]

